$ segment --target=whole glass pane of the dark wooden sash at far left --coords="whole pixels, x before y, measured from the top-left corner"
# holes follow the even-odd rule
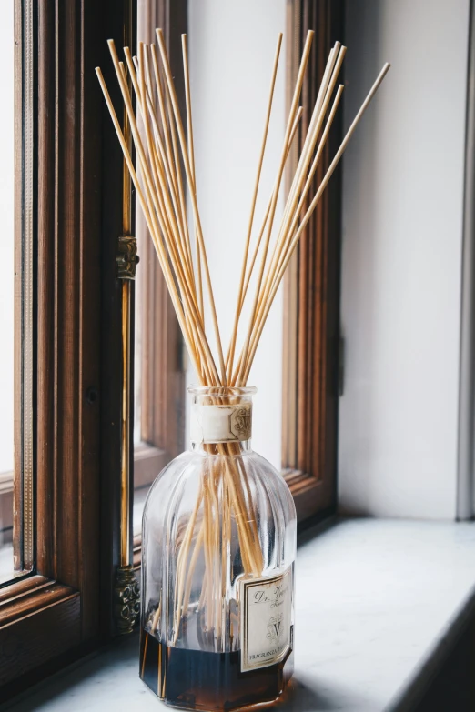
[[[0,584],[30,571],[34,559],[33,25],[31,4],[23,8],[21,19],[14,17],[14,3],[6,3],[0,27],[5,97],[0,134],[4,266],[0,280]],[[25,52],[25,47],[30,51]],[[15,85],[18,80],[20,84]],[[21,121],[16,121],[17,112]]]

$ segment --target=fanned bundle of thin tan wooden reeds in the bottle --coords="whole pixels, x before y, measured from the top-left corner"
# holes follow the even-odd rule
[[[187,107],[185,122],[180,115],[177,93],[162,31],[157,30],[158,51],[156,45],[140,43],[138,57],[132,57],[129,48],[125,47],[126,65],[119,61],[114,42],[110,40],[108,43],[133,136],[136,150],[136,166],[133,163],[121,123],[117,118],[107,91],[104,77],[101,70],[96,68],[96,73],[106,98],[106,104],[122,146],[126,165],[136,187],[138,201],[157,250],[157,256],[177,313],[177,319],[183,332],[189,356],[202,385],[223,388],[223,396],[219,402],[223,402],[223,398],[231,398],[232,400],[232,396],[229,396],[229,391],[226,392],[224,390],[226,387],[245,386],[247,384],[259,339],[288,262],[331,175],[339,163],[341,155],[349,143],[351,135],[389,70],[389,64],[383,66],[369,91],[369,95],[361,105],[353,123],[349,126],[349,130],[329,165],[326,175],[324,175],[318,186],[317,192],[315,195],[309,196],[313,178],[318,163],[322,158],[323,149],[327,143],[331,125],[343,92],[343,85],[337,87],[337,81],[346,48],[340,45],[339,42],[336,43],[328,56],[328,63],[319,87],[317,100],[308,125],[308,132],[303,141],[297,169],[288,191],[283,215],[276,220],[278,196],[284,169],[302,114],[302,109],[298,106],[298,102],[312,39],[313,32],[309,32],[288,113],[284,144],[278,162],[278,173],[268,199],[268,206],[262,224],[258,229],[258,236],[251,256],[251,237],[255,221],[259,179],[266,149],[268,125],[278,72],[278,59],[282,45],[282,35],[278,36],[264,122],[264,133],[258,156],[258,170],[252,194],[248,229],[244,241],[244,256],[239,276],[236,312],[226,357],[224,356],[217,323],[217,309],[209,274],[207,246],[203,236],[197,204],[187,37],[182,35]],[[133,93],[129,91],[128,80],[131,81]],[[134,111],[134,95],[136,112]],[[139,131],[137,124],[138,117],[143,122],[142,132]],[[185,186],[187,186],[187,190]],[[192,207],[190,224],[188,224],[187,196],[189,196]],[[255,292],[251,297],[252,306],[248,326],[243,332],[242,345],[238,350],[240,317],[243,305],[248,297],[251,277],[254,277],[255,280]],[[205,325],[206,299],[208,300],[211,316],[211,330],[214,333],[216,342],[216,358],[210,346],[208,328]],[[226,396],[225,393],[227,393]],[[219,391],[217,391],[216,397],[217,400],[221,397],[219,396]],[[221,590],[221,582],[215,581],[212,573],[212,562],[216,560],[217,552],[222,552],[225,549],[222,546],[222,541],[218,541],[218,539],[230,536],[230,527],[229,531],[227,531],[227,527],[224,524],[222,527],[216,524],[220,520],[220,516],[215,516],[214,512],[217,507],[216,493],[218,487],[221,487],[226,499],[224,506],[226,516],[223,521],[228,521],[231,514],[236,518],[245,571],[249,574],[258,575],[262,570],[262,553],[258,540],[256,516],[246,492],[248,487],[246,471],[244,466],[239,464],[238,448],[233,443],[217,444],[215,446],[207,446],[207,448],[210,454],[230,457],[225,457],[227,464],[224,467],[224,472],[217,472],[214,466],[210,466],[207,469],[207,475],[203,476],[196,507],[183,535],[177,560],[176,636],[179,628],[179,617],[183,611],[187,610],[187,601],[190,595],[190,571],[193,570],[200,550],[204,550],[207,566],[203,596],[207,597],[208,615],[212,619],[215,618],[213,610],[216,609],[217,611],[219,608],[219,605],[216,605],[216,599],[226,593],[225,590]],[[202,514],[198,516],[198,512]],[[198,520],[199,525],[197,525]],[[157,613],[159,616],[159,612]],[[216,629],[219,627],[218,615],[214,623],[211,620],[210,625]]]

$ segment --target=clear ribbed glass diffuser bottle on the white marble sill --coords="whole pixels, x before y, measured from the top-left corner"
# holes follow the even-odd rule
[[[250,709],[292,675],[295,506],[251,449],[256,389],[188,390],[192,448],[144,511],[140,677],[172,707]]]

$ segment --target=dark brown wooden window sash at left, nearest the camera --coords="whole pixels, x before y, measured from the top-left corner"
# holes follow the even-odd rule
[[[100,501],[106,484],[100,452],[101,405],[110,375],[100,369],[102,146],[113,131],[102,123],[94,70],[105,64],[106,18],[115,16],[117,3],[17,0],[17,12],[26,5],[35,27],[36,575],[1,589],[2,701],[18,689],[20,677],[25,688],[40,668],[60,667],[106,635],[100,607]],[[19,230],[17,221],[16,239],[22,237]],[[105,499],[108,511],[111,502]]]

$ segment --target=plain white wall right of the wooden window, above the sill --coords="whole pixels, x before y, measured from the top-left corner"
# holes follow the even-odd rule
[[[453,518],[469,0],[347,7],[340,506]]]

